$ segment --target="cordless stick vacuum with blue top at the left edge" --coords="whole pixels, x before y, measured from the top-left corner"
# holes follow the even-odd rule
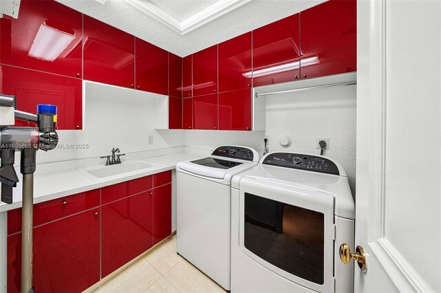
[[[50,151],[58,144],[57,106],[37,105],[37,113],[16,110],[15,96],[0,94],[0,183],[1,202],[12,204],[12,188],[19,178],[14,169],[15,152],[21,152],[20,173],[23,174],[21,238],[21,292],[32,293],[32,228],[34,205],[34,172],[37,151]],[[24,120],[36,127],[14,127],[15,120]]]

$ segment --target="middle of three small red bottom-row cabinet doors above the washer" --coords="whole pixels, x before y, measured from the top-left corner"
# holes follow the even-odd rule
[[[194,129],[218,129],[218,94],[193,98]]]

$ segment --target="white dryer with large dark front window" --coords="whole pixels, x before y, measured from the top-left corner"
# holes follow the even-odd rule
[[[353,292],[355,206],[345,169],[270,153],[232,180],[232,292]]]

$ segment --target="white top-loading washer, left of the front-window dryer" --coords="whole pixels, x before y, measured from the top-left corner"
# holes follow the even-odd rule
[[[208,158],[176,164],[177,252],[230,290],[231,180],[258,163],[244,146],[219,146]]]

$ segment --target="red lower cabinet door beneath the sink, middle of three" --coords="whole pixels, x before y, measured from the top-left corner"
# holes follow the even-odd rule
[[[153,245],[152,191],[101,206],[102,277]]]

